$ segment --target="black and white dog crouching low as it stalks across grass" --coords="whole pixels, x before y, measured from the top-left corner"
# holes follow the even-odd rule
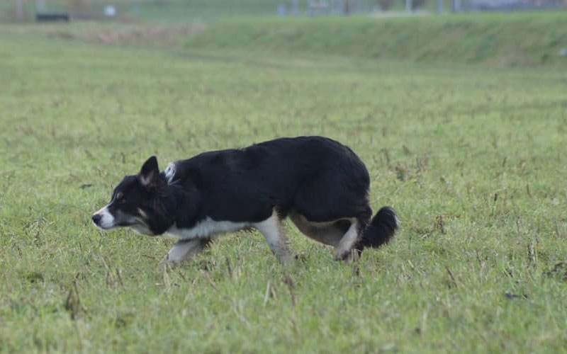
[[[279,261],[291,258],[281,221],[334,246],[347,260],[386,244],[398,228],[391,207],[372,217],[370,178],[359,157],[325,137],[281,138],[245,149],[205,152],[160,172],[155,156],[125,176],[92,220],[101,229],[131,227],[179,238],[164,261],[179,263],[215,236],[253,227]]]

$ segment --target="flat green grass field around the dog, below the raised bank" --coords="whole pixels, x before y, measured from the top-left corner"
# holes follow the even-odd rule
[[[564,69],[32,33],[0,29],[0,352],[567,352]],[[287,225],[305,261],[242,232],[162,273],[171,240],[91,225],[150,154],[295,135],[361,156],[391,244]]]

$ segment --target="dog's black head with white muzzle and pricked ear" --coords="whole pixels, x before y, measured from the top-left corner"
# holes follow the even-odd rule
[[[172,225],[174,198],[159,173],[155,156],[145,161],[137,175],[125,176],[112,192],[111,202],[92,216],[101,229],[131,227],[140,234],[163,234]]]

